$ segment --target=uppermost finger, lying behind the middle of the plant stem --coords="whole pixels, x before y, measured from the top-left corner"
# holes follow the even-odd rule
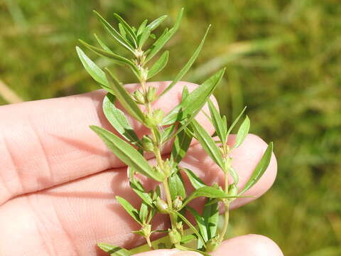
[[[151,82],[163,90],[168,82]],[[169,112],[180,102],[180,82],[155,108]],[[136,85],[127,85],[133,91]],[[0,107],[0,204],[13,196],[72,181],[110,168],[124,166],[112,154],[90,124],[113,130],[102,112],[103,90],[50,100]],[[202,113],[197,119],[212,132]],[[146,128],[131,120],[136,133]],[[165,151],[169,151],[166,146]]]

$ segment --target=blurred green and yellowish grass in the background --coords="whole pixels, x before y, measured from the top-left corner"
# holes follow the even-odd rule
[[[168,43],[171,62],[156,80],[171,80],[212,23],[185,80],[200,82],[226,66],[216,92],[222,112],[231,121],[247,105],[251,132],[275,142],[277,181],[266,196],[234,210],[233,235],[267,235],[288,256],[340,255],[340,1],[2,0],[0,104],[98,88],[75,54],[77,38],[94,42],[90,31],[109,39],[93,9],[136,24],[169,14],[170,26],[182,6],[182,26]]]

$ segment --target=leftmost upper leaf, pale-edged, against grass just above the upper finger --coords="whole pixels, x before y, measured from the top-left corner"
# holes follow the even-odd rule
[[[105,87],[105,90],[112,91],[109,82],[105,76],[105,73],[99,68],[78,46],[76,47],[77,55],[82,62],[83,67],[87,70],[87,73],[94,78],[97,82]]]

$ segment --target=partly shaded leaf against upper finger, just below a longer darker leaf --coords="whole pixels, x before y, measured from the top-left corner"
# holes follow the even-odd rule
[[[103,112],[105,117],[107,117],[108,121],[112,126],[119,132],[119,134],[124,137],[131,144],[141,144],[139,137],[137,137],[134,132],[133,127],[129,124],[128,119],[126,119],[126,115],[124,112],[115,107],[116,97],[111,93],[107,93],[103,100]]]

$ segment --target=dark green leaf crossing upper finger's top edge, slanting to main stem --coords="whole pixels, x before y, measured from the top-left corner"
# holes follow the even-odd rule
[[[114,91],[114,95],[117,97],[117,100],[121,103],[124,109],[131,114],[132,117],[139,120],[139,122],[144,122],[144,113],[140,110],[139,106],[131,99],[131,95],[129,92],[124,89],[119,81],[110,73],[110,71],[105,68],[104,72],[107,75],[107,80],[109,81],[112,90]]]

